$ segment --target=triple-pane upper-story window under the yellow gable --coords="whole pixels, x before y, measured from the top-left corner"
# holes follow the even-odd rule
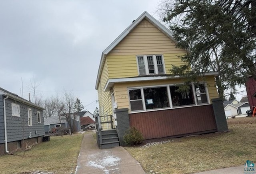
[[[139,75],[164,74],[162,55],[137,56]]]

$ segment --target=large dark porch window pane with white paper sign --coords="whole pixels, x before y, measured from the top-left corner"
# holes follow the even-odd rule
[[[146,110],[156,108],[168,108],[168,94],[166,87],[160,88],[144,88],[144,98]]]

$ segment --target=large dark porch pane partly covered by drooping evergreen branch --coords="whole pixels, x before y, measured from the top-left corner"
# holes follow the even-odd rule
[[[177,92],[178,86],[170,86],[172,106],[185,106],[195,104],[193,97],[192,85],[186,92]]]

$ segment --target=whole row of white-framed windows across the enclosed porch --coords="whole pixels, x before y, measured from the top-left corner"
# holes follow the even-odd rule
[[[178,92],[174,85],[140,87],[128,92],[131,112],[208,104],[204,84],[191,84],[186,92]]]

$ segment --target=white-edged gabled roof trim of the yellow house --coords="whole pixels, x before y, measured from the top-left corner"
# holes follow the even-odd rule
[[[96,80],[96,85],[95,89],[98,89],[98,85],[100,82],[100,76],[102,73],[102,69],[104,66],[104,62],[106,59],[106,56],[110,51],[115,48],[142,20],[146,19],[148,22],[150,22],[152,25],[154,25],[158,30],[160,30],[162,33],[164,33],[166,36],[168,36],[171,40],[175,41],[172,32],[166,28],[163,24],[161,24],[158,20],[156,20],[153,16],[148,14],[148,12],[143,12],[130,26],[128,26],[101,54],[101,59],[100,59],[100,66],[98,69],[98,75],[97,75],[97,80]]]

